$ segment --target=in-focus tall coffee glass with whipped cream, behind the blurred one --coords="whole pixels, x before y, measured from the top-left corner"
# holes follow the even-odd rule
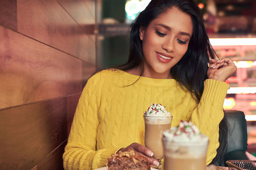
[[[145,120],[145,146],[152,150],[155,159],[164,157],[163,131],[170,129],[172,115],[161,104],[151,104],[144,112]]]

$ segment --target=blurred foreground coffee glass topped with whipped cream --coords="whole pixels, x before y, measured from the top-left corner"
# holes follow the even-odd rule
[[[164,131],[164,170],[205,170],[208,141],[191,122]]]

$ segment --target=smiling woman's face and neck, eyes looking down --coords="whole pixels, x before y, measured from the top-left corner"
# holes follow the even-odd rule
[[[147,28],[140,27],[143,76],[172,78],[170,69],[186,53],[192,32],[191,17],[175,7],[161,13]]]

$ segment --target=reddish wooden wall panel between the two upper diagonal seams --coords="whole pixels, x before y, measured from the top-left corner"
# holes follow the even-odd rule
[[[57,1],[17,0],[19,32],[95,64],[95,59],[86,55],[84,46],[90,38],[82,28]]]

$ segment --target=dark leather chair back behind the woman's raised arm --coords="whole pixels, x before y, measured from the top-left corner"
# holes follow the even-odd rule
[[[227,166],[225,163],[227,160],[248,160],[246,157],[247,126],[243,111],[226,110],[224,115],[224,122],[226,122],[224,124],[227,127],[220,128],[220,138],[227,138],[227,140],[219,139],[220,148],[217,150],[217,155],[218,152],[223,152],[223,148],[226,148],[226,151],[219,162],[216,160],[212,162],[216,166]],[[223,125],[223,122],[221,124]]]

